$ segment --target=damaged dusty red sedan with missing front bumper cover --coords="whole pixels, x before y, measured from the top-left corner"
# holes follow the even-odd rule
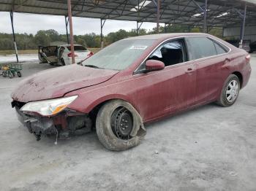
[[[231,106],[251,73],[249,54],[208,34],[120,40],[80,65],[39,72],[12,93],[20,122],[57,139],[96,127],[108,149],[135,147],[143,123],[195,106]]]

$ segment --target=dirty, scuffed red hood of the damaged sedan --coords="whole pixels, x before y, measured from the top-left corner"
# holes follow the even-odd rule
[[[20,102],[59,98],[72,90],[105,82],[117,73],[77,64],[48,69],[19,82],[12,92],[12,98]]]

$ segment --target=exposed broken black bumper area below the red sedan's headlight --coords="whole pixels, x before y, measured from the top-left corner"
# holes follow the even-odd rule
[[[57,139],[69,139],[70,136],[82,135],[91,131],[91,119],[88,114],[65,109],[53,117],[42,117],[36,114],[26,114],[20,111],[23,104],[12,102],[18,120],[36,136],[37,141],[41,136],[55,135]]]

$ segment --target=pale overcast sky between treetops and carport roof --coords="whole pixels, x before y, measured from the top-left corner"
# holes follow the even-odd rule
[[[39,30],[54,29],[59,34],[66,34],[64,16],[35,15],[28,13],[14,12],[15,33],[36,34]],[[73,17],[74,34],[89,34],[94,32],[100,34],[100,20],[94,18]],[[150,30],[156,27],[156,23],[143,23],[141,28]],[[126,31],[136,28],[134,21],[106,20],[103,34],[124,29]],[[9,12],[0,12],[0,32],[12,33],[12,26]]]

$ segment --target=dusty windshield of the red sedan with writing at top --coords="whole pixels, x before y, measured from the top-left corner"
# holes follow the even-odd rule
[[[123,70],[130,66],[154,40],[127,39],[110,44],[97,54],[83,61],[83,66],[96,66],[100,69]]]

